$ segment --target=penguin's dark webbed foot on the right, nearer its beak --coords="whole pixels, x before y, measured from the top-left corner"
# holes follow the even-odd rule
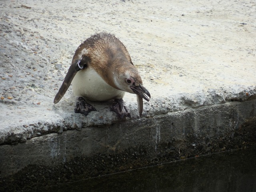
[[[110,107],[110,110],[116,112],[120,119],[123,119],[125,117],[131,117],[131,114],[125,106],[124,100],[122,98],[114,99],[114,102]]]

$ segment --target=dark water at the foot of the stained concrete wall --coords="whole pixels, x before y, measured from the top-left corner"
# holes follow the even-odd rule
[[[254,192],[256,146],[41,188],[39,191]]]

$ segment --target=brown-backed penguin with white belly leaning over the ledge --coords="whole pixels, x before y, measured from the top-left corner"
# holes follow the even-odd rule
[[[91,36],[76,49],[54,104],[61,100],[71,82],[76,96],[75,113],[85,116],[96,111],[87,100],[113,100],[111,111],[121,119],[131,117],[123,100],[126,92],[136,94],[138,112],[142,116],[143,99],[151,98],[124,44],[106,32]]]

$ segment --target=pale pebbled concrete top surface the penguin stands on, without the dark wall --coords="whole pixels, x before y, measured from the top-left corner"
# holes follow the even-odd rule
[[[255,100],[255,9],[249,0],[0,1],[1,147],[67,130],[136,129],[159,115]],[[93,102],[97,112],[87,117],[74,114],[71,88],[53,104],[74,51],[101,31],[116,34],[140,70],[152,96],[143,118],[132,94],[124,98],[132,115],[124,122],[111,102]],[[250,110],[247,118],[254,116]]]

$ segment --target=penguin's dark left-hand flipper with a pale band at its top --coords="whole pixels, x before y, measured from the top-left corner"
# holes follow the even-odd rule
[[[79,70],[85,68],[86,66],[87,66],[87,59],[84,57],[82,57],[80,60],[76,60],[70,65],[68,72],[66,74],[66,77],[64,78],[64,81],[54,98],[54,104],[58,103],[61,100],[61,98],[64,96],[72,80],[74,79],[74,76],[76,75],[76,73]]]

